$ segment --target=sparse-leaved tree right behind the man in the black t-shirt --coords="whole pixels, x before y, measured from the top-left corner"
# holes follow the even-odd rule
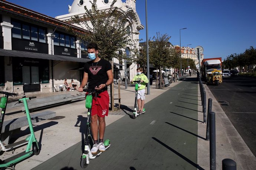
[[[112,61],[112,70],[114,70],[113,58],[121,60],[130,57],[126,56],[123,52],[118,54],[119,50],[124,50],[126,47],[129,47],[131,51],[137,50],[136,45],[138,40],[132,40],[128,34],[132,23],[127,24],[127,12],[120,11],[117,7],[114,7],[116,0],[113,0],[108,10],[103,11],[98,10],[96,5],[97,0],[89,2],[92,5],[90,10],[85,6],[85,14],[82,17],[72,17],[74,24],[89,32],[87,34],[78,34],[71,27],[67,27],[67,30],[75,34],[85,45],[88,42],[97,43],[99,56]],[[132,34],[138,33],[134,32]],[[132,52],[131,54],[137,56],[137,53]],[[111,108],[114,109],[114,85],[112,84],[111,87]]]

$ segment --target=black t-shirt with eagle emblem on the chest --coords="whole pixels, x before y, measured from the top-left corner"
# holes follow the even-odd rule
[[[111,69],[110,62],[105,59],[100,59],[98,62],[86,62],[84,72],[88,73],[88,88],[94,89],[96,86],[105,84],[108,81],[106,72]],[[104,90],[106,89],[107,87]]]

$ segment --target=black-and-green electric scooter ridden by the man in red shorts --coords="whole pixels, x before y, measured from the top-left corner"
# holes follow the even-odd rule
[[[88,92],[86,95],[85,100],[85,107],[88,109],[87,113],[87,123],[86,123],[86,132],[85,132],[85,150],[81,157],[81,167],[86,168],[89,164],[89,159],[94,159],[98,157],[102,152],[98,150],[97,153],[92,154],[91,149],[89,147],[89,137],[90,135],[90,124],[91,124],[91,112],[92,112],[92,95],[95,95],[95,98],[97,98],[97,91],[95,89],[83,89],[84,92]],[[104,141],[105,149],[107,150],[110,147],[110,141],[109,139],[106,139]]]

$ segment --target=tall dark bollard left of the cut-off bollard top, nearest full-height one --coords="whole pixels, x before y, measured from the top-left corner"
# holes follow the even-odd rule
[[[210,170],[216,170],[216,129],[214,112],[210,112]]]

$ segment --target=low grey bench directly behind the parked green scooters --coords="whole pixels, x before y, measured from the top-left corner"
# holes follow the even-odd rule
[[[36,123],[36,122],[41,122],[43,120],[56,117],[56,112],[44,111],[40,113],[30,114],[30,117],[31,117],[32,123]],[[4,121],[2,132],[1,132],[2,143],[4,143],[4,145],[8,145],[13,132],[15,131],[19,133],[22,127],[28,126],[28,125],[29,123],[27,122],[27,116]]]

